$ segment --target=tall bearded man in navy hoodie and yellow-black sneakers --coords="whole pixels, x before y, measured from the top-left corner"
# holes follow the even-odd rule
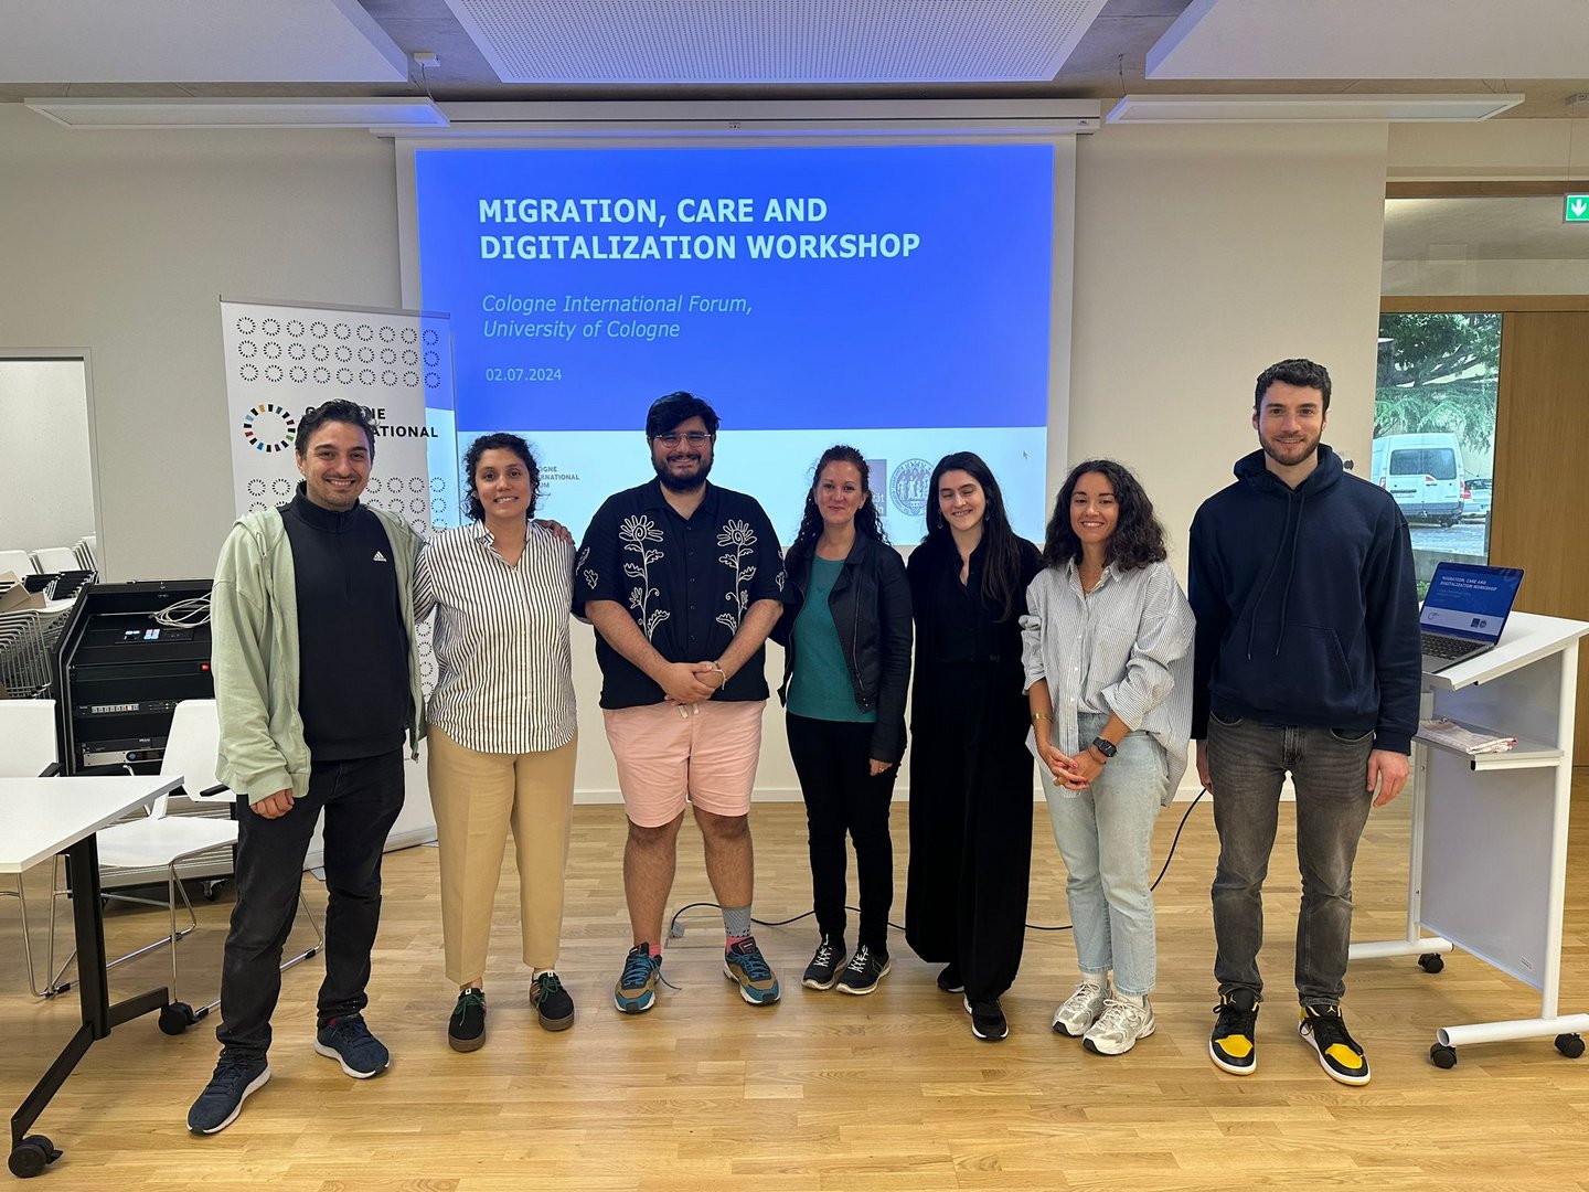
[[[1370,806],[1406,784],[1422,663],[1406,520],[1319,442],[1328,410],[1322,366],[1265,369],[1252,405],[1262,450],[1192,521],[1192,736],[1219,831],[1209,1057],[1236,1076],[1257,1068],[1263,877],[1290,772],[1300,1035],[1336,1081],[1368,1084],[1341,1019],[1352,861]]]

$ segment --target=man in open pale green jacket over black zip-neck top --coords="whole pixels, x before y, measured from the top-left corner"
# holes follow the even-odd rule
[[[221,969],[221,1058],[188,1113],[194,1133],[224,1130],[270,1079],[281,950],[321,812],[326,979],[315,1051],[356,1079],[389,1062],[362,1009],[404,745],[413,752],[423,734],[412,602],[421,539],[359,504],[375,456],[359,405],[310,410],[294,448],[297,496],[238,520],[215,574],[216,776],[248,811]]]

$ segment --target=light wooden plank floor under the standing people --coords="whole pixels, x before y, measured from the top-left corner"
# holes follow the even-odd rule
[[[1586,785],[1586,784],[1579,784]],[[1185,811],[1160,820],[1157,857]],[[1351,973],[1347,1020],[1365,1043],[1367,1089],[1332,1082],[1297,1039],[1290,938],[1297,879],[1284,826],[1268,892],[1263,960],[1271,1000],[1260,1068],[1246,1079],[1208,1060],[1214,987],[1208,885],[1214,830],[1192,811],[1158,890],[1158,1033],[1119,1058],[1085,1054],[1049,1017],[1073,984],[1066,933],[1031,931],[1004,1000],[1011,1036],[972,1038],[958,998],[893,936],[893,974],[872,997],[815,993],[799,973],[810,920],[760,928],[783,977],[774,1008],[750,1008],[721,976],[721,923],[683,917],[664,990],[640,1017],[613,1011],[628,947],[618,807],[578,807],[561,971],[577,1025],[548,1035],[524,1004],[512,871],[504,874],[489,1043],[447,1047],[453,1001],[442,976],[435,850],[386,860],[386,903],[369,1020],[391,1070],[350,1081],[310,1049],[318,962],[286,976],[272,1082],[224,1133],[183,1122],[215,1062],[210,1024],[167,1038],[154,1019],[94,1046],[37,1130],[65,1157],[40,1187],[87,1189],[1583,1189],[1589,1187],[1589,1060],[1549,1041],[1468,1047],[1451,1071],[1427,1058],[1440,1025],[1538,1014],[1538,995],[1471,957],[1438,976],[1409,958]],[[756,914],[809,904],[802,812],[753,815]],[[895,815],[904,857],[906,814]],[[1405,920],[1405,804],[1378,812],[1357,865],[1357,938],[1398,938]],[[1041,807],[1030,922],[1066,922],[1061,866]],[[1562,1008],[1589,1009],[1589,828],[1573,833]],[[37,874],[35,874],[37,877]],[[1483,880],[1483,874],[1475,874]],[[904,866],[899,866],[899,887]],[[1505,896],[1505,892],[1497,892]],[[672,906],[710,898],[699,838],[686,828]],[[311,904],[323,904],[310,880]],[[899,903],[896,901],[896,908]],[[202,906],[181,946],[184,995],[215,989],[227,895]],[[898,915],[896,915],[898,919]],[[110,946],[156,935],[157,915],[114,912]],[[16,914],[0,904],[0,1103],[14,1108],[76,1022],[75,998],[22,992]],[[160,984],[146,958],[116,971],[118,995]]]

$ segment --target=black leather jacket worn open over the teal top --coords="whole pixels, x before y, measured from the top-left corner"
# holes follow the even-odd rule
[[[783,685],[779,699],[788,702],[794,674],[794,618],[810,586],[810,555],[794,561],[790,574],[793,601],[772,629],[783,647]],[[833,625],[855,687],[855,706],[877,712],[871,757],[895,763],[904,757],[904,701],[910,690],[910,583],[899,551],[856,536],[844,571],[828,594]]]

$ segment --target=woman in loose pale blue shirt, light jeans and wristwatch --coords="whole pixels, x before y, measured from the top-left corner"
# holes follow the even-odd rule
[[[1054,1030],[1100,1055],[1154,1033],[1149,850],[1192,728],[1192,607],[1165,556],[1136,477],[1112,459],[1077,464],[1022,618],[1031,741],[1052,777],[1081,969]]]

